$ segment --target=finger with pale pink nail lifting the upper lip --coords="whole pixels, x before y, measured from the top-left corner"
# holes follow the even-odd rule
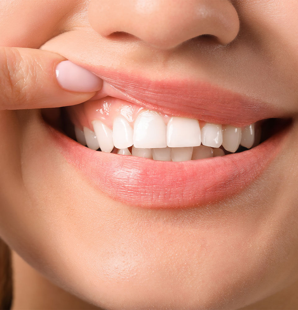
[[[0,110],[74,105],[101,87],[99,77],[59,54],[0,47]]]

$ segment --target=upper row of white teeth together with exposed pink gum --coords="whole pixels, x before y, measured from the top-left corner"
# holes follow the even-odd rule
[[[251,148],[254,144],[255,124],[242,128],[221,126],[185,117],[170,117],[117,98],[103,99],[105,100],[101,100],[96,109],[94,102],[90,105],[86,102],[70,107],[69,114],[78,127],[76,135],[81,144],[84,144],[82,130],[79,129],[82,125],[88,129],[94,129],[94,135],[98,139],[103,139],[103,132],[106,134],[109,129],[109,137],[104,139],[106,140],[105,152],[111,152],[114,146],[118,149],[126,149],[132,145],[136,148],[158,149],[197,147],[202,144],[211,148],[219,148],[223,145],[227,151],[233,153],[238,149],[239,144],[246,148]],[[96,118],[92,119],[92,117]],[[101,126],[97,123],[101,123]],[[103,126],[105,131],[101,128]],[[88,137],[85,135],[85,139],[86,141],[89,139],[89,144],[94,149],[96,146],[90,142],[89,131],[91,130],[87,131],[84,128],[85,131],[88,135]],[[100,145],[100,140],[98,142]]]

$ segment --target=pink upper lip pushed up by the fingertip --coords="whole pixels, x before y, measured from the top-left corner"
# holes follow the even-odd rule
[[[79,64],[104,80],[91,100],[113,96],[164,114],[199,119],[209,123],[246,126],[262,119],[280,117],[267,102],[242,95],[202,80],[151,80],[144,75],[106,67]]]

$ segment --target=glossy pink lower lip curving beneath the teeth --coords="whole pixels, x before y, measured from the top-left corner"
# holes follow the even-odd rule
[[[247,188],[279,153],[287,129],[236,154],[186,162],[93,151],[48,125],[66,160],[97,190],[142,208],[200,207]]]

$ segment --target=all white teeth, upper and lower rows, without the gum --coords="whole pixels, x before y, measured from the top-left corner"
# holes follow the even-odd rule
[[[185,117],[165,119],[157,112],[141,112],[132,125],[123,116],[113,120],[113,130],[100,120],[92,121],[94,131],[75,127],[78,142],[91,149],[100,148],[118,154],[135,155],[163,161],[184,161],[223,155],[223,150],[213,151],[221,145],[229,152],[236,152],[239,144],[246,148],[255,145],[255,124],[242,128],[198,122]],[[259,132],[259,127],[257,132]],[[201,145],[202,143],[202,145]],[[131,152],[128,150],[133,146]]]

